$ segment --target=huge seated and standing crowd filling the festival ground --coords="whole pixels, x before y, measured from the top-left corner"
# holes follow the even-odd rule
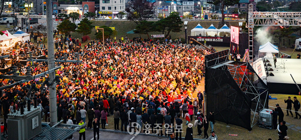
[[[87,122],[87,128],[94,128],[95,137],[99,133],[97,128],[106,129],[107,117],[111,115],[114,117],[115,130],[120,128],[121,131],[127,131],[140,127],[145,132],[146,126],[149,126],[152,134],[161,136],[163,124],[182,125],[184,119],[191,129],[187,128],[187,131],[192,134],[192,127],[189,126],[195,119],[199,136],[204,128],[204,137],[209,137],[209,124],[214,134],[214,113],[210,112],[208,119],[199,110],[203,107],[201,92],[193,98],[193,92],[204,76],[204,55],[210,54],[208,50],[187,48],[178,40],[159,44],[151,39],[125,39],[119,42],[107,39],[105,48],[101,41],[94,39],[82,48],[81,42],[71,36],[55,38],[55,48],[55,59],[82,60],[82,63],[56,63],[61,66],[56,71],[55,79],[58,121],[80,125]],[[20,42],[17,54],[28,53],[27,50],[42,50],[47,57],[45,46],[35,46],[29,41]],[[16,63],[15,66],[19,75],[27,73],[26,67],[31,68],[32,75],[47,70],[46,61],[27,62],[26,65]],[[1,86],[13,82],[1,79]],[[3,90],[2,102],[10,101],[10,106],[3,104],[3,109],[16,110],[18,103],[12,102],[13,99],[24,97],[26,99],[21,100],[26,101],[30,97],[37,97],[45,121],[49,121],[47,86],[51,82],[45,75]],[[162,130],[159,131],[155,124]],[[169,128],[174,130],[174,127],[167,127],[165,135],[172,138],[172,134],[166,133]],[[188,132],[187,139],[190,137]],[[83,130],[80,133],[81,137],[85,137]],[[176,136],[181,139],[181,132],[178,134],[176,131]]]

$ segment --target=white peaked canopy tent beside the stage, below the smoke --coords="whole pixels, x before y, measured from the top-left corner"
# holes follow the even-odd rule
[[[262,54],[265,53],[265,54]],[[259,46],[259,55],[264,58],[273,58],[272,53],[279,53],[278,47],[270,42]]]

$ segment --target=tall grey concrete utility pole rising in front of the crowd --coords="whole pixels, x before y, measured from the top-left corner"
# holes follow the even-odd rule
[[[43,3],[44,4],[44,3]],[[44,6],[44,5],[43,5]],[[52,20],[52,3],[51,0],[46,0],[46,20],[47,20],[47,45],[48,45],[48,70],[55,68],[54,60],[54,45],[53,45],[53,20]],[[43,11],[44,12],[44,11]],[[49,73],[49,79],[55,78],[55,71]],[[50,126],[57,123],[56,111],[56,83],[49,87],[49,112],[50,112]]]

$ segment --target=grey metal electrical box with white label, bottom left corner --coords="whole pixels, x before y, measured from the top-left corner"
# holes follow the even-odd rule
[[[24,114],[20,111],[8,114],[8,140],[29,140],[42,132],[40,108],[24,109]]]

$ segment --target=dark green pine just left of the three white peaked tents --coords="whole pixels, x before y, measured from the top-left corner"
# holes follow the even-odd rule
[[[156,31],[162,32],[165,36],[168,36],[170,32],[181,32],[182,20],[179,13],[171,13],[168,17],[162,18],[155,23]]]

